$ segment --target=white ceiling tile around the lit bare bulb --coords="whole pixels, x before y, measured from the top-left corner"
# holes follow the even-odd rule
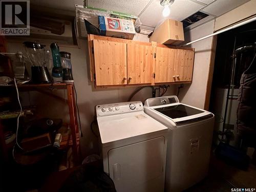
[[[150,6],[141,14],[140,20],[143,26],[156,27],[162,23],[166,18],[174,20],[183,20],[184,18],[196,13],[202,9],[203,5],[188,0],[175,0],[170,5],[170,15],[168,17],[162,16],[163,6],[160,5],[160,0],[154,0]]]

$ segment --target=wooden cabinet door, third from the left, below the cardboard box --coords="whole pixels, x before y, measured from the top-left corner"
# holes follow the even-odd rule
[[[156,48],[155,82],[174,82],[176,49]]]

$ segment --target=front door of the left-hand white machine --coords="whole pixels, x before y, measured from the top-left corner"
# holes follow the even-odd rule
[[[164,137],[110,150],[109,173],[117,191],[163,191]]]

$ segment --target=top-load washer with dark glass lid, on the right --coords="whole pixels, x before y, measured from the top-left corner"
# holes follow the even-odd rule
[[[179,102],[176,96],[147,99],[145,113],[168,129],[165,189],[182,191],[208,172],[214,115]]]

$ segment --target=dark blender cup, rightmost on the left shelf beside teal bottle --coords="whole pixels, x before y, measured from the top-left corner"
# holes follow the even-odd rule
[[[60,60],[63,70],[63,82],[74,82],[71,66],[71,53],[60,51]]]

